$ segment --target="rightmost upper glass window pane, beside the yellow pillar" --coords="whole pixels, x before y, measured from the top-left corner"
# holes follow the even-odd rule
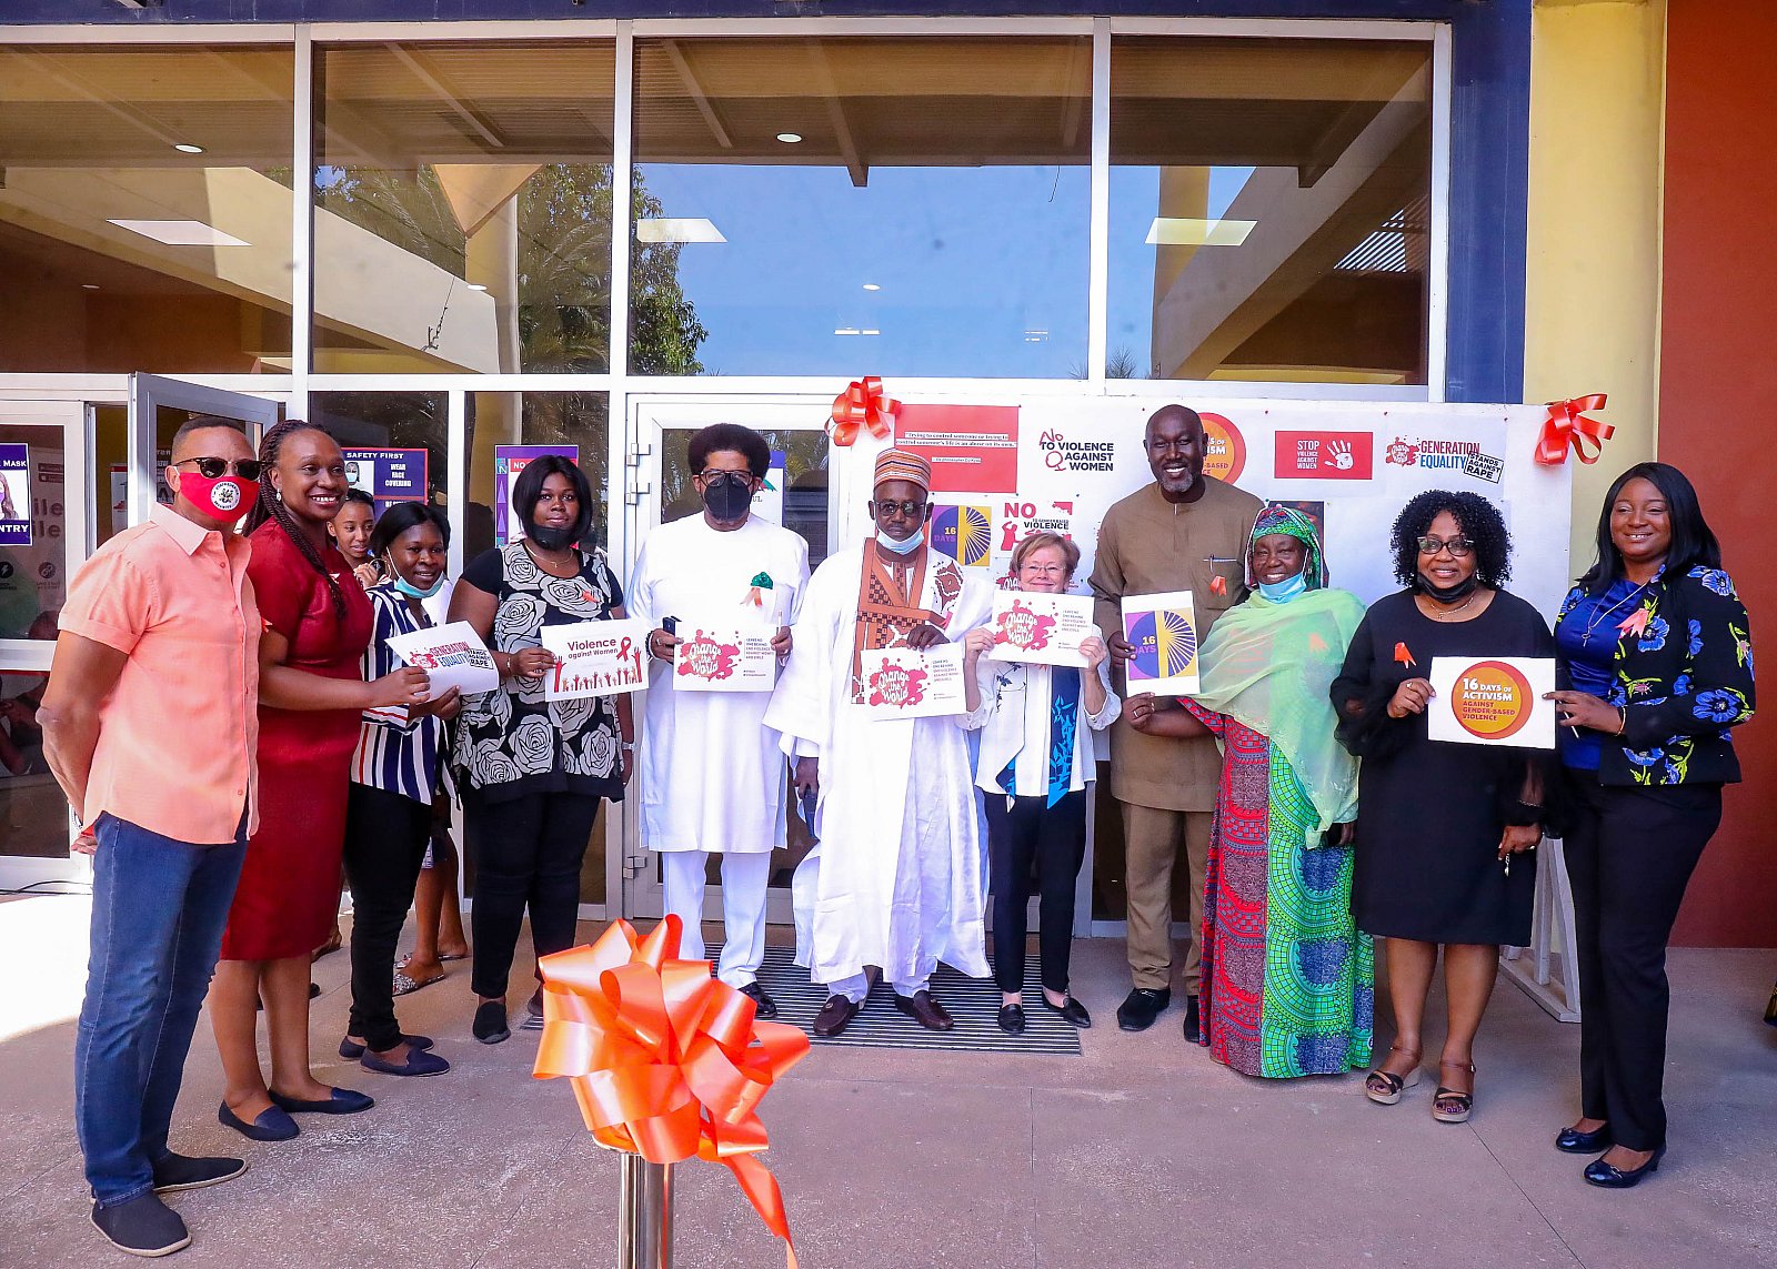
[[[1430,44],[1111,44],[1112,379],[1423,384]]]

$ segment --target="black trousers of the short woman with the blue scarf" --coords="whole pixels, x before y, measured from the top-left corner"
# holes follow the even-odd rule
[[[1002,992],[1024,985],[1025,910],[1036,873],[1038,967],[1043,986],[1068,990],[1073,949],[1073,882],[1086,857],[1086,794],[1070,793],[1054,807],[1048,798],[981,794],[988,810],[988,871],[993,890],[993,981]]]

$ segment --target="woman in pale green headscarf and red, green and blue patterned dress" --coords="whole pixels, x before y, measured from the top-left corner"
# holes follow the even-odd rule
[[[1327,698],[1363,603],[1326,581],[1308,517],[1267,507],[1247,551],[1253,594],[1203,640],[1201,690],[1128,702],[1137,730],[1207,730],[1223,743],[1203,896],[1203,1043],[1244,1075],[1342,1075],[1370,1063],[1375,960],[1351,915],[1358,762],[1333,738]]]

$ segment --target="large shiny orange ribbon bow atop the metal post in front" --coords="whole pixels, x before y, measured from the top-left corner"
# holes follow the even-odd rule
[[[590,947],[544,956],[531,1073],[572,1081],[601,1146],[657,1164],[725,1164],[794,1269],[784,1194],[753,1159],[768,1145],[753,1107],[809,1052],[809,1036],[755,1022],[753,1002],[711,978],[707,960],[679,960],[682,930],[668,915],[638,938],[618,921]]]

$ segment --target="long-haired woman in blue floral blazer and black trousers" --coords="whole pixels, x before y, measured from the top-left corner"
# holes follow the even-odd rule
[[[1747,610],[1677,467],[1617,476],[1555,643],[1582,1102],[1555,1145],[1603,1152],[1585,1178],[1626,1189],[1665,1153],[1667,938],[1752,716]]]

